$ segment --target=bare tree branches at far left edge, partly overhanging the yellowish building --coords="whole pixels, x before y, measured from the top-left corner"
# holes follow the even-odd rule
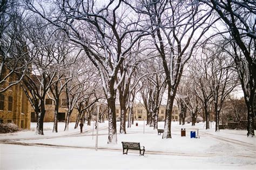
[[[3,0],[0,4],[0,92],[18,84],[31,62],[25,37],[28,17],[19,2]],[[15,76],[15,73],[19,76]]]

